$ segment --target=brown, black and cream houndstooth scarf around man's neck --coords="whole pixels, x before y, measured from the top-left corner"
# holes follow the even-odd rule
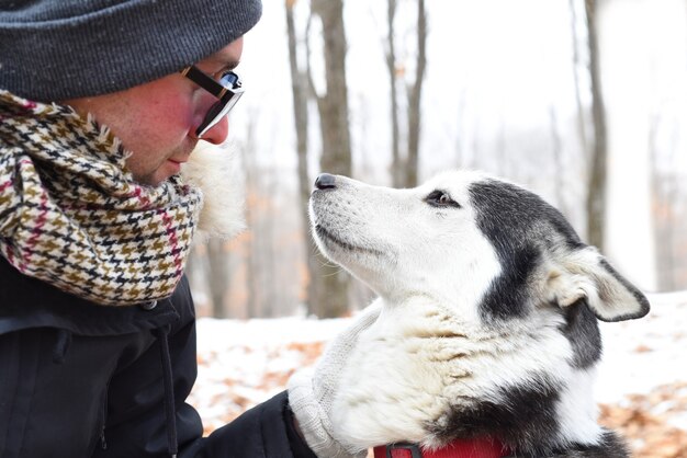
[[[169,297],[202,194],[134,182],[109,129],[0,90],[0,254],[20,272],[108,306]]]

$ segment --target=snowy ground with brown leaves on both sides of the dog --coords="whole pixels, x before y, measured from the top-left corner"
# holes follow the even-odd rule
[[[641,409],[665,419],[682,440],[687,432],[687,291],[650,295],[650,301],[652,311],[641,320],[601,324],[605,357],[597,399],[630,409],[638,394],[646,399],[668,387],[668,396],[653,396]],[[289,376],[313,364],[348,320],[200,319],[199,377],[190,402],[203,416],[206,433],[281,391]],[[687,457],[685,451],[651,456]]]

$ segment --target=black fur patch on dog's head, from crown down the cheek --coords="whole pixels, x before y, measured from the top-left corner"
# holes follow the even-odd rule
[[[584,244],[559,210],[529,191],[487,180],[474,183],[470,196],[477,226],[494,245],[504,272],[486,293],[482,316],[487,320],[521,318],[531,307],[528,280],[541,250],[561,240],[571,249]]]

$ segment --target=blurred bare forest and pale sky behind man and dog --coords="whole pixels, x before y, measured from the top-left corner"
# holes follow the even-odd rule
[[[326,318],[371,300],[311,241],[320,171],[394,187],[450,168],[498,174],[561,209],[641,288],[687,288],[686,0],[263,9],[224,147],[249,228],[195,245],[199,314]]]

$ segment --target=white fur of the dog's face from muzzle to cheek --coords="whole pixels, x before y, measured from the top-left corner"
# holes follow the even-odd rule
[[[474,316],[472,305],[500,272],[468,194],[480,178],[443,174],[413,190],[393,190],[337,176],[336,190],[313,192],[315,240],[390,304],[426,296]],[[438,190],[460,207],[429,203]]]

